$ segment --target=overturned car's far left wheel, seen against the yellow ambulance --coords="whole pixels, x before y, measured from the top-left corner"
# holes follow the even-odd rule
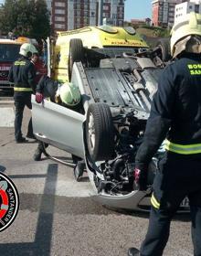
[[[71,80],[72,66],[75,61],[83,61],[84,48],[81,39],[73,38],[69,41],[69,80]]]

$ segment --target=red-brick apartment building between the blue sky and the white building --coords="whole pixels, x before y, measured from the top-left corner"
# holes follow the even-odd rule
[[[182,0],[154,0],[152,1],[153,26],[173,27],[175,22],[175,5],[182,3]]]

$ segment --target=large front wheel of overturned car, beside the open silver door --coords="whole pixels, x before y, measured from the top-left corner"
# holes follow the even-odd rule
[[[114,153],[114,130],[111,109],[107,104],[93,103],[87,112],[86,138],[94,161],[109,160]]]

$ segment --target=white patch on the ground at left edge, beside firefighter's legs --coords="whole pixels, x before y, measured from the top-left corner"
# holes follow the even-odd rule
[[[13,108],[0,108],[0,127],[14,127],[14,120]]]

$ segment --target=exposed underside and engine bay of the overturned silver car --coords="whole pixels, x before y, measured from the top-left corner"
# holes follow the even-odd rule
[[[143,194],[134,183],[134,158],[143,141],[153,94],[165,64],[157,57],[157,49],[137,54],[124,51],[115,58],[110,54],[110,58],[105,58],[104,49],[103,59],[99,59],[100,52],[99,49],[94,66],[89,59],[75,62],[72,73],[72,81],[84,95],[86,164],[93,173],[90,179],[102,204],[148,210],[153,178],[165,152],[164,144],[149,165],[148,189]],[[95,54],[87,55],[89,58]],[[121,207],[121,197],[130,198],[133,194],[136,202],[132,198],[130,204],[128,199],[127,205],[123,202]]]

